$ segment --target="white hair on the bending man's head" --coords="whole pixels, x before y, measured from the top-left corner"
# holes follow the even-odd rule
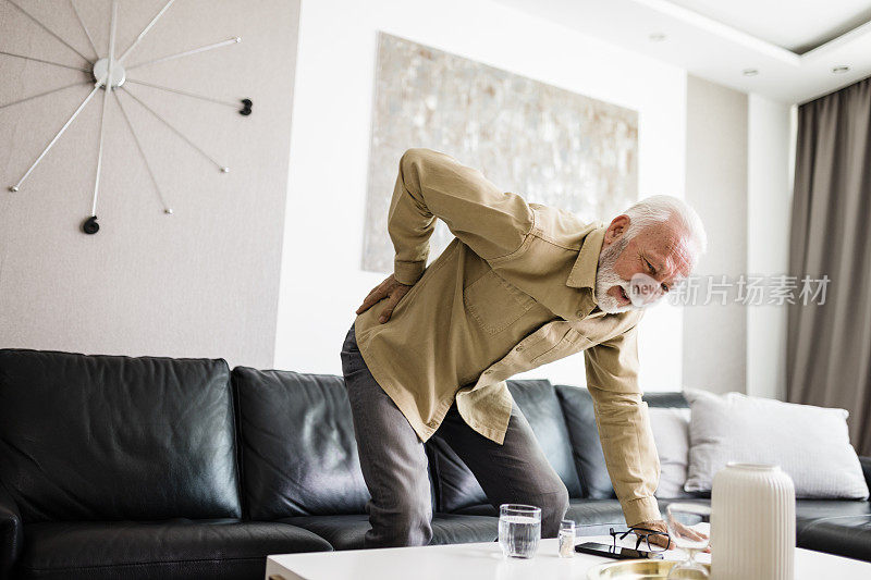
[[[684,236],[696,259],[708,249],[708,234],[704,233],[701,218],[683,199],[672,196],[651,196],[623,213],[629,218],[626,239],[631,239],[645,227],[674,221],[679,230],[678,233]]]

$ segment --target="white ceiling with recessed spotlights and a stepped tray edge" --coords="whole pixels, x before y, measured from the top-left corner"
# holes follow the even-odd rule
[[[783,102],[871,75],[871,0],[496,1]]]

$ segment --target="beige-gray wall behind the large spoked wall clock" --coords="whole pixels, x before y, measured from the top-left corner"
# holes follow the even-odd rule
[[[164,3],[121,2],[118,45],[130,46]],[[23,5],[91,55],[69,2]],[[110,2],[77,5],[103,55]],[[231,168],[221,174],[127,98],[173,215],[163,213],[118,104],[110,101],[100,231],[81,232],[91,208],[102,91],[17,194],[5,188],[89,86],[0,109],[0,347],[272,363],[298,12],[298,0],[179,1],[131,53],[128,65],[243,38],[240,45],[128,72],[191,92],[255,102],[254,114],[243,118],[228,107],[131,85]],[[0,3],[0,47],[86,65],[7,2]],[[88,76],[0,55],[0,78],[4,103]]]

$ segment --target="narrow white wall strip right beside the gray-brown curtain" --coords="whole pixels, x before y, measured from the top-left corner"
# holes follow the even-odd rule
[[[786,273],[792,210],[790,108],[750,95],[747,171],[747,270]],[[786,308],[747,307],[747,394],[784,399]]]

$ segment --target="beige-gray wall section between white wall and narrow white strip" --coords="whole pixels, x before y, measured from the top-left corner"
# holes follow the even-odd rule
[[[747,121],[746,94],[687,76],[686,200],[708,230],[696,273],[716,280],[747,272]],[[733,299],[684,308],[685,386],[746,392],[747,313]]]

